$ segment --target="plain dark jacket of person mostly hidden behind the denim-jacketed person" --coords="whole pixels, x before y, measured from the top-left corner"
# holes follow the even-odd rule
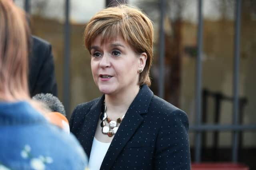
[[[28,74],[30,96],[38,93],[51,93],[57,96],[52,45],[36,36],[32,36],[32,40]]]

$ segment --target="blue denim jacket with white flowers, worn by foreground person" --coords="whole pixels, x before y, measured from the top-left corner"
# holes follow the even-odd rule
[[[84,170],[87,163],[76,138],[29,103],[0,102],[1,170]]]

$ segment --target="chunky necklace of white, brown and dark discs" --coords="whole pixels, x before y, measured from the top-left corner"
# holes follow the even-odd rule
[[[122,120],[124,119],[124,115],[122,117],[118,117],[116,121],[112,121],[106,113],[107,107],[105,105],[105,101],[103,103],[103,107],[104,111],[102,111],[102,113],[100,114],[100,120],[102,121],[100,123],[100,127],[102,127],[103,134],[107,134],[108,137],[111,137],[116,134],[116,131],[118,130],[117,124],[120,124],[122,122]],[[105,120],[108,122],[108,126],[106,126]]]

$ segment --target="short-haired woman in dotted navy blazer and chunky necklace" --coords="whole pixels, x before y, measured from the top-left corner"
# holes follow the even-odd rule
[[[153,95],[153,26],[136,8],[106,8],[84,31],[101,98],[78,105],[70,120],[91,170],[190,169],[186,113]]]

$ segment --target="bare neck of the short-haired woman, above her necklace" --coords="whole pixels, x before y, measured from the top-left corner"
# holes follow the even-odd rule
[[[122,91],[115,95],[105,95],[105,105],[107,107],[107,114],[111,116],[121,116],[126,113],[132,101],[140,90],[140,86]]]

